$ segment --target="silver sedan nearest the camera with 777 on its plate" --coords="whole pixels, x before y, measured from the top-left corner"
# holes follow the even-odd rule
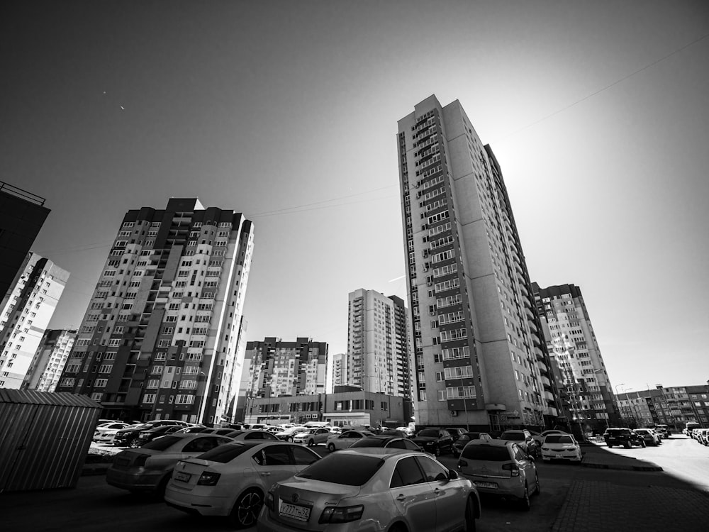
[[[266,494],[259,532],[474,530],[473,484],[425,453],[347,449],[328,455]],[[371,525],[369,523],[372,523]]]

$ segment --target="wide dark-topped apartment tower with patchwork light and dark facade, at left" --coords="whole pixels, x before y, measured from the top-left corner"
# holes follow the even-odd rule
[[[231,421],[253,238],[242,214],[195,198],[128,211],[57,392],[104,417]]]

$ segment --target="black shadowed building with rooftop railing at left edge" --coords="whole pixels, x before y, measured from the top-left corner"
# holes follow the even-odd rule
[[[0,181],[0,308],[17,284],[23,264],[50,210],[45,199]]]

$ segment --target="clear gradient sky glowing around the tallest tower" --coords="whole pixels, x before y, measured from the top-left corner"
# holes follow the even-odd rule
[[[0,6],[0,180],[77,327],[128,209],[255,223],[248,340],[347,348],[347,294],[406,297],[396,121],[459,99],[532,280],[581,287],[620,389],[709,379],[709,3],[65,1]]]

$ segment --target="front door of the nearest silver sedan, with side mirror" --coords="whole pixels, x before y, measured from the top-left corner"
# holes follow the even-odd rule
[[[451,482],[448,470],[428,456],[417,456],[426,481],[436,501],[436,531],[459,528],[465,515],[465,499],[460,497],[459,482]]]

